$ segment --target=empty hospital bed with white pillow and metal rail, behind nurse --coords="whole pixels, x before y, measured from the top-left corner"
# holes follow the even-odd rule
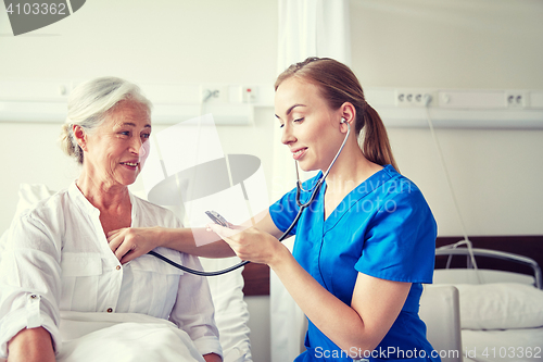
[[[543,258],[543,239],[475,239],[475,246],[484,246],[471,249],[477,270],[468,248],[440,246],[435,252],[434,286],[458,291],[457,310],[445,309],[441,313],[458,315],[463,361],[542,361],[543,285],[538,261]],[[446,242],[441,240],[441,245]],[[421,309],[422,304],[424,300]],[[431,340],[430,325],[434,321],[425,322]]]

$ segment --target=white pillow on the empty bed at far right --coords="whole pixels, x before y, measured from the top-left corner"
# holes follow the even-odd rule
[[[543,290],[517,283],[457,284],[463,329],[543,326]]]

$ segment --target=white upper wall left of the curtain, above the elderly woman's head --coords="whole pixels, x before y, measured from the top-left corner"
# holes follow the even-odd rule
[[[0,78],[273,82],[274,0],[93,0],[73,15],[1,37]],[[3,12],[1,32],[11,30]]]

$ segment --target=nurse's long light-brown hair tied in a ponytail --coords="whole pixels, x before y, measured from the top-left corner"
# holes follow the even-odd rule
[[[275,90],[290,77],[317,86],[332,110],[338,110],[345,102],[352,103],[356,110],[354,129],[364,157],[379,165],[391,164],[399,171],[384,124],[366,102],[362,86],[349,66],[330,58],[307,58],[282,72],[277,77]]]

